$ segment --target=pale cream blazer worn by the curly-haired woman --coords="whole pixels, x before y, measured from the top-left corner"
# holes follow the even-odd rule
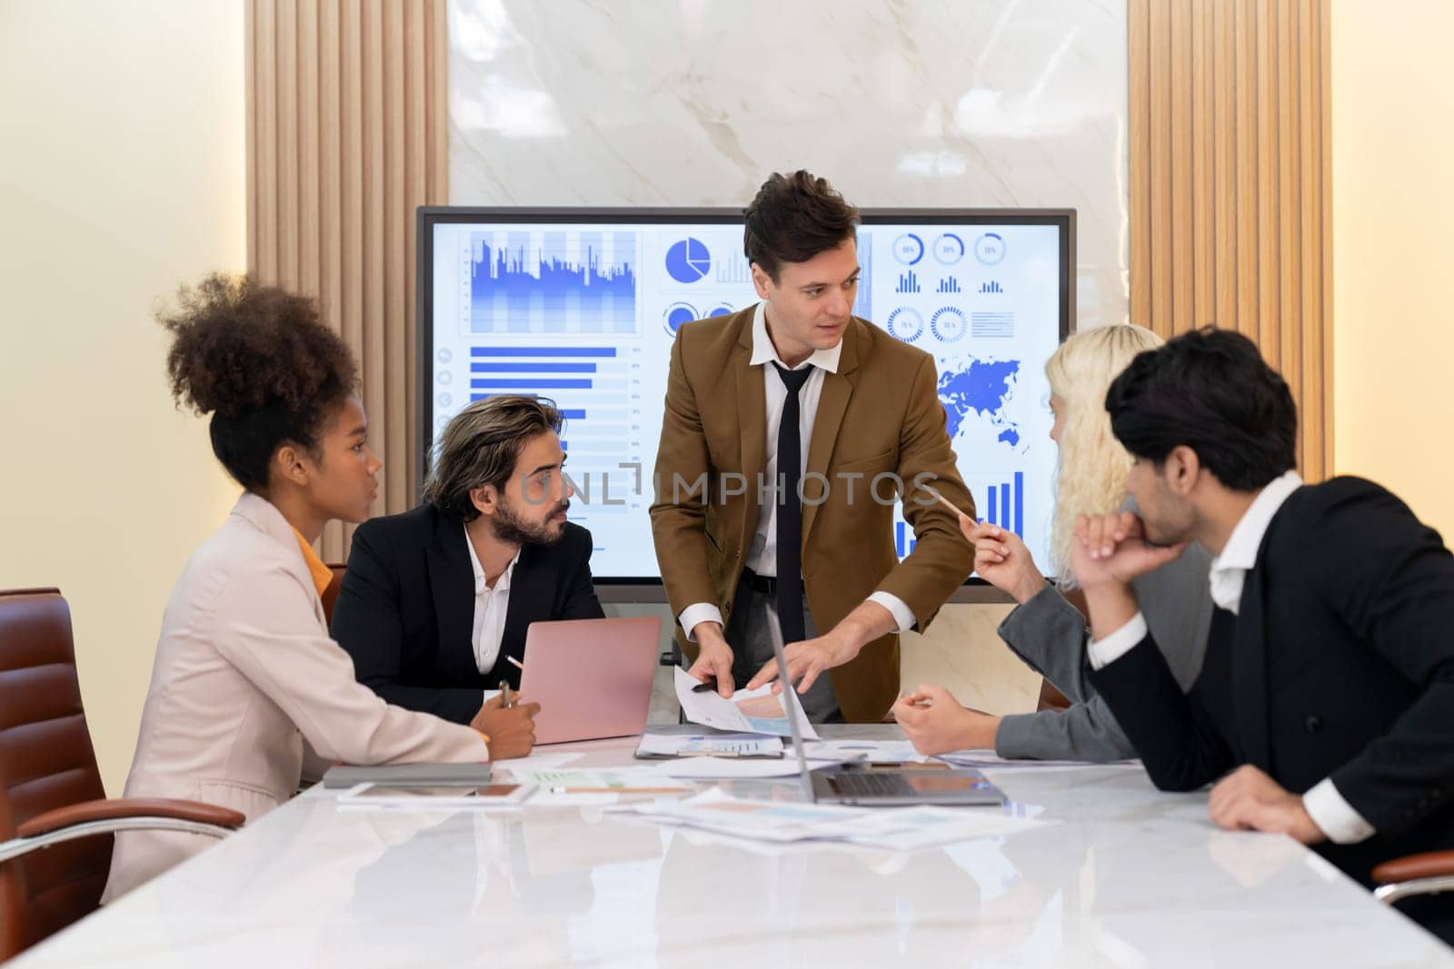
[[[353,678],[292,527],[244,494],[172,591],[126,796],[204,800],[252,822],[298,789],[304,741],[350,764],[489,758],[471,728],[390,706]],[[118,834],[102,902],[212,843]]]

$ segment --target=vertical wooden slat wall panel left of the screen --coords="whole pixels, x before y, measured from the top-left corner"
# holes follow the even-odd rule
[[[414,501],[414,208],[448,192],[443,0],[247,0],[247,264],[359,360],[375,513]],[[348,556],[350,527],[320,548]]]

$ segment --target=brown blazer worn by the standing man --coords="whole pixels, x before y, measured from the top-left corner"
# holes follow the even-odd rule
[[[758,527],[756,482],[768,466],[763,368],[752,365],[756,307],[688,323],[672,346],[666,413],[656,458],[651,533],[662,581],[680,616],[692,603],[733,593]],[[827,632],[869,593],[883,590],[913,610],[923,632],[974,567],[958,519],[928,492],[904,501],[917,546],[894,554],[893,478],[906,488],[923,475],[974,514],[945,429],[933,357],[853,317],[843,333],[838,373],[823,378],[804,465],[803,585],[813,623]],[[746,487],[726,475],[746,475]],[[810,478],[816,475],[816,478]],[[705,490],[694,491],[696,482]],[[922,501],[929,501],[922,504]],[[680,636],[680,628],[678,628]],[[696,644],[685,642],[689,657]],[[829,671],[849,722],[877,722],[899,694],[899,636],[877,639]]]

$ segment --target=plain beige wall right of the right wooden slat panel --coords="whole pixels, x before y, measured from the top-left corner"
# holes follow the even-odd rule
[[[1454,3],[1335,0],[1335,461],[1454,540]]]

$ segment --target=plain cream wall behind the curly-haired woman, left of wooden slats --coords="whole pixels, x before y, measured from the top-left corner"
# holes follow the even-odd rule
[[[0,588],[71,604],[121,793],[157,626],[237,490],[150,311],[246,263],[241,0],[0,0]]]

